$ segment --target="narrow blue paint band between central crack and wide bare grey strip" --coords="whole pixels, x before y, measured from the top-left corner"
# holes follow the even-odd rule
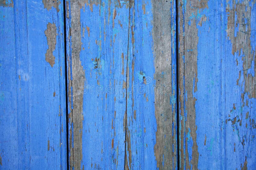
[[[130,9],[130,34],[129,34],[129,87],[127,97],[127,128],[131,134],[131,160],[129,151],[127,165],[130,169],[157,169],[154,146],[156,145],[156,118],[154,87],[154,54],[152,38],[152,4],[151,1],[136,0]],[[145,5],[145,14],[143,6]],[[131,28],[132,27],[132,28]],[[134,44],[132,43],[134,33]],[[143,42],[141,42],[143,39]],[[132,70],[134,64],[134,70]],[[161,73],[165,76],[165,73]],[[143,77],[146,80],[143,80]],[[146,84],[144,83],[146,81]],[[133,89],[133,91],[132,91]],[[136,118],[134,117],[136,110]],[[138,134],[139,130],[145,130]],[[146,143],[143,146],[142,144]],[[127,145],[126,145],[127,148]],[[166,159],[159,162],[164,166]],[[130,166],[131,164],[131,166]]]

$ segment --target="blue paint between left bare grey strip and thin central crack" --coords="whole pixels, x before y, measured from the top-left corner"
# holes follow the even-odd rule
[[[116,3],[102,0],[101,4],[92,4],[92,8],[85,4],[80,9],[80,60],[85,73],[81,168],[85,169],[124,167],[126,94],[123,85],[126,82],[129,8],[124,2],[120,2],[121,6]],[[67,25],[67,35],[69,27]],[[68,49],[68,53],[72,59],[72,49]],[[72,60],[68,67],[71,65]]]

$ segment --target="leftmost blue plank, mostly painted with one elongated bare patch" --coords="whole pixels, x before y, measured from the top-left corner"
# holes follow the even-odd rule
[[[63,6],[56,3],[0,1],[0,169],[67,166]]]

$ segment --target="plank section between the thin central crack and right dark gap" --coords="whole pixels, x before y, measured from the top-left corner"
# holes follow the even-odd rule
[[[175,1],[130,1],[125,169],[176,169]]]

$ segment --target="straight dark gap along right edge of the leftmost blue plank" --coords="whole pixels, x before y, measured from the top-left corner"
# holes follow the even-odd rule
[[[68,70],[67,70],[67,32],[66,32],[66,3],[63,0],[63,25],[64,25],[64,58],[65,58],[65,92],[66,92],[66,143],[67,143],[67,169],[69,169],[69,157],[68,157]]]

